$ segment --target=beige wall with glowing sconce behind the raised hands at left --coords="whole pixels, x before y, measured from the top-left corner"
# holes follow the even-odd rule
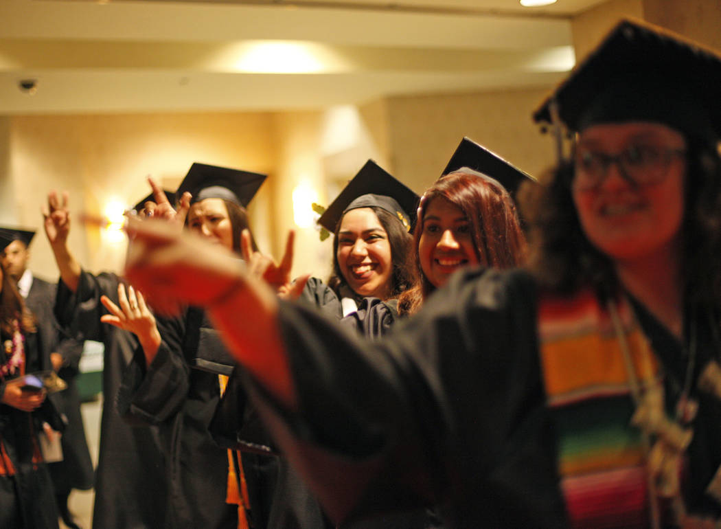
[[[48,191],[68,190],[71,249],[92,271],[119,270],[125,245],[84,229],[81,212],[102,213],[112,198],[135,204],[149,193],[147,175],[174,187],[195,161],[260,172],[275,166],[272,120],[265,113],[17,116],[10,123],[9,177],[17,214],[6,222],[41,229],[40,206]],[[265,193],[262,188],[259,202],[267,206]],[[57,276],[42,234],[32,253],[35,273]]]

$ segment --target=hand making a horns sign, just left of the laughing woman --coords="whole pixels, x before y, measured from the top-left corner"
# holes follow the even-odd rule
[[[294,300],[300,296],[310,276],[303,276],[297,281],[291,279],[291,268],[293,268],[293,241],[296,234],[291,230],[286,240],[286,251],[280,264],[276,264],[273,258],[253,251],[250,232],[244,229],[241,234],[240,250],[243,260],[248,264],[249,274],[265,281],[270,285],[278,296],[284,299]]]

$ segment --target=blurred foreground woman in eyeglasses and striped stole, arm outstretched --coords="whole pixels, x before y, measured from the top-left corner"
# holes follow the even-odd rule
[[[340,520],[415,494],[455,527],[712,526],[720,87],[717,53],[620,22],[536,112],[575,142],[528,199],[530,274],[459,274],[381,344],[200,263],[197,241],[162,226],[133,230],[128,273],[151,284],[172,270],[176,289],[208,274],[182,297],[211,306]],[[399,478],[404,494],[384,488]]]

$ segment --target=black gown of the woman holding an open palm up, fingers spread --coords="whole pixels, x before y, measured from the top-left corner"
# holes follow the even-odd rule
[[[220,340],[202,310],[156,318],[162,343],[149,366],[138,348],[118,393],[130,421],[156,424],[167,455],[168,528],[236,528],[237,508],[226,503],[228,453],[208,424],[220,399],[218,375],[194,369],[198,347]]]

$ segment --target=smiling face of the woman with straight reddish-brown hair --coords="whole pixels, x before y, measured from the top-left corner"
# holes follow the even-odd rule
[[[434,287],[443,287],[459,268],[479,263],[466,214],[446,198],[433,198],[425,209],[418,258]]]

